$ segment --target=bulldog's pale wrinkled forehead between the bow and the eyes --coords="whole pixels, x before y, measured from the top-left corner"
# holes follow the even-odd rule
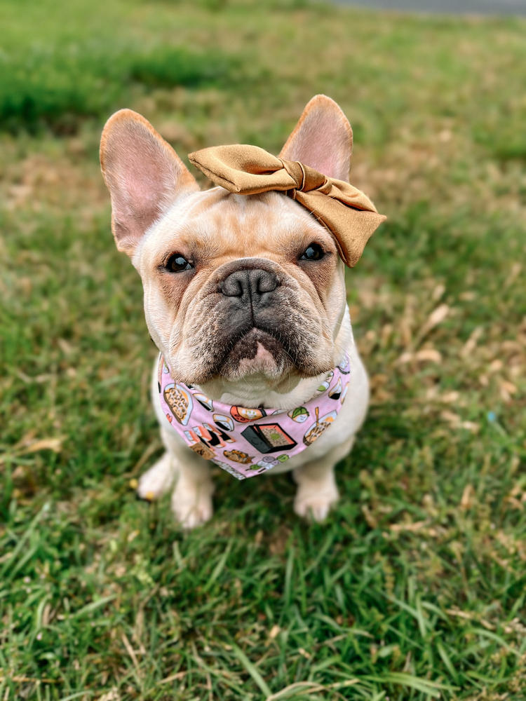
[[[180,245],[208,257],[262,256],[313,239],[332,243],[325,227],[285,193],[236,195],[215,187],[178,200],[145,237],[142,253]]]

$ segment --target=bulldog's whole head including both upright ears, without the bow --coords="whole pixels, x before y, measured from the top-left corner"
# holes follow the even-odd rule
[[[337,105],[307,105],[281,157],[346,179],[352,136]],[[324,226],[285,193],[201,191],[144,118],[114,115],[101,162],[112,224],[144,286],[151,338],[173,378],[327,372],[341,355],[344,266]]]

